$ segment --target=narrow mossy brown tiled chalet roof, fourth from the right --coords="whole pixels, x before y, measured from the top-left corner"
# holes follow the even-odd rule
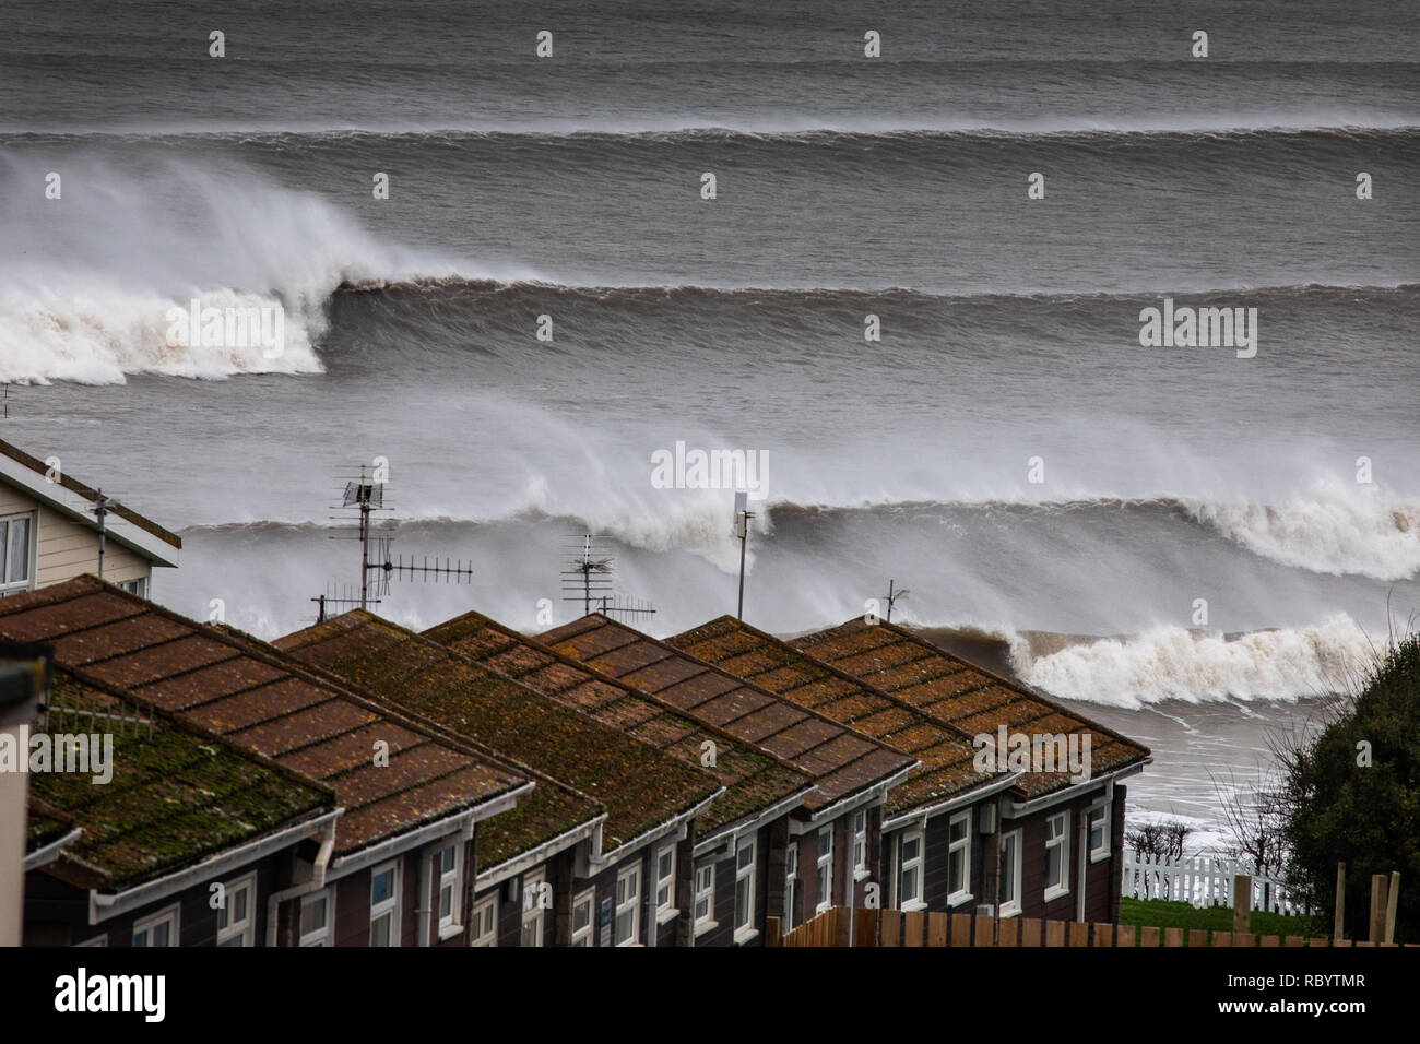
[[[446,621],[425,631],[425,638],[687,764],[699,766],[704,750],[701,744],[714,743],[716,764],[707,771],[726,793],[696,818],[697,837],[761,812],[814,785],[807,773],[736,740],[723,729],[693,722],[656,697],[606,678],[481,612],[466,612]]]

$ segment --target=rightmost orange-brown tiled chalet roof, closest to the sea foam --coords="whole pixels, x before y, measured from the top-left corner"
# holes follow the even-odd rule
[[[987,733],[994,737],[1003,724],[1010,733],[1088,733],[1093,776],[1149,757],[1143,744],[953,656],[896,624],[868,624],[858,616],[836,628],[795,638],[792,645],[968,736]],[[1068,784],[1068,771],[1027,773],[1018,781],[1027,797]]]

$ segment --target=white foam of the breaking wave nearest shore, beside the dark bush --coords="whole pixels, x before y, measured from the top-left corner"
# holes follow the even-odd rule
[[[1162,626],[1032,656],[1011,643],[1015,670],[1065,699],[1118,707],[1163,700],[1295,700],[1346,690],[1377,648],[1350,616],[1305,628],[1255,631],[1237,638]]]

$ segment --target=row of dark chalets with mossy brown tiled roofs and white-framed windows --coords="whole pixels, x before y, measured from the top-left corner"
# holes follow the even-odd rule
[[[910,631],[530,636],[364,611],[261,642],[78,577],[0,601],[54,651],[34,730],[37,945],[733,946],[832,905],[1118,918],[1147,749]],[[102,726],[99,724],[102,723]],[[973,737],[1091,739],[1092,774],[974,767]]]

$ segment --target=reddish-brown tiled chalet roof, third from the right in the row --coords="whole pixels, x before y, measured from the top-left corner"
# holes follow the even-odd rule
[[[902,776],[913,766],[913,758],[892,747],[605,615],[582,616],[541,639],[696,722],[723,729],[802,768],[818,783],[818,791],[804,803],[811,811]]]

